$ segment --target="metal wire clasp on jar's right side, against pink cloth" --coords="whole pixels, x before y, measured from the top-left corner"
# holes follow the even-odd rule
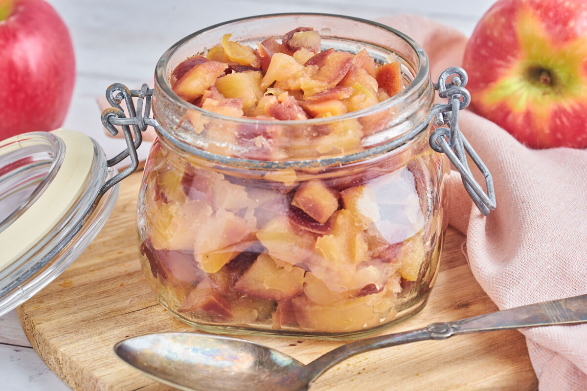
[[[451,83],[447,83],[446,81],[450,76],[453,76]],[[464,88],[466,84],[467,73],[460,67],[446,69],[438,77],[438,83],[433,83],[434,89],[438,90],[438,96],[448,98],[448,104],[438,103],[432,108],[434,125],[439,126],[439,128],[430,135],[430,147],[434,151],[444,152],[447,155],[451,163],[460,172],[467,193],[469,193],[481,213],[487,216],[490,210],[495,209],[496,206],[493,179],[487,166],[485,166],[458,127],[458,112],[467,107],[471,101],[471,94]],[[443,127],[443,125],[447,125],[447,127]],[[465,151],[483,174],[487,193],[473,178],[471,169],[467,164]]]

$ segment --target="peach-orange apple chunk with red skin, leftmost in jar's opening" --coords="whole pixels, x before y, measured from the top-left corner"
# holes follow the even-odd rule
[[[173,85],[173,91],[180,98],[193,101],[214,85],[227,67],[227,64],[218,61],[208,61],[194,66],[177,80]]]

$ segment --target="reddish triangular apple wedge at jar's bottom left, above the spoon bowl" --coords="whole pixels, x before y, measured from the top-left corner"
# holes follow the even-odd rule
[[[177,309],[177,312],[180,313],[192,311],[204,312],[206,315],[221,319],[232,318],[230,304],[223,295],[214,290],[208,279],[196,285]]]

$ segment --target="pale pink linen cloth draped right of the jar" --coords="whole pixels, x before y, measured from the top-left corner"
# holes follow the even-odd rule
[[[380,22],[424,47],[433,81],[461,65],[467,38],[456,30],[417,16]],[[483,290],[500,309],[586,294],[587,149],[529,149],[495,123],[461,113],[461,131],[490,169],[497,198],[497,209],[484,217],[451,172],[450,224],[467,234]],[[482,179],[477,175],[484,185]],[[587,324],[522,333],[540,390],[587,390]]]

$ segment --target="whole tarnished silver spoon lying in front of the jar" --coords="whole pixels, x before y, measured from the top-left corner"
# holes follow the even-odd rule
[[[181,390],[300,391],[336,363],[374,349],[471,332],[583,322],[587,294],[350,342],[308,365],[254,342],[189,332],[124,339],[114,352],[144,375]]]

